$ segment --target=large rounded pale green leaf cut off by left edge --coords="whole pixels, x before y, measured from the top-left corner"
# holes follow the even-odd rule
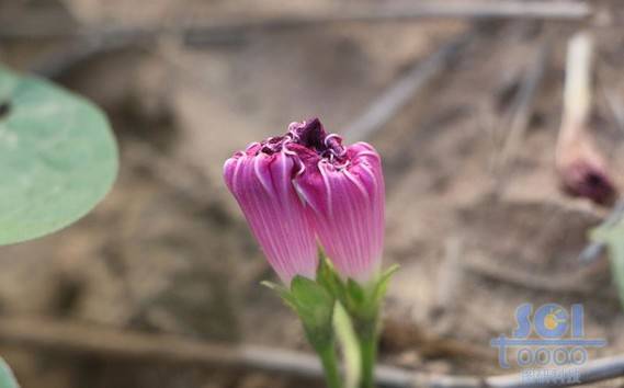
[[[0,244],[78,220],[109,192],[117,168],[116,144],[98,107],[0,66]]]

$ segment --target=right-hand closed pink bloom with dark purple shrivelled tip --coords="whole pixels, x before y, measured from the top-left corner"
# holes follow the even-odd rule
[[[305,167],[294,180],[326,254],[344,277],[367,282],[379,270],[385,185],[379,155],[366,142],[342,146],[318,119],[291,124],[291,148]]]

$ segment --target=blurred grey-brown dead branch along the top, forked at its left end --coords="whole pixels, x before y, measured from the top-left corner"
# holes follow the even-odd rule
[[[586,2],[579,1],[457,1],[411,3],[409,7],[360,7],[332,10],[325,13],[286,14],[277,18],[248,18],[218,21],[178,22],[167,26],[143,28],[105,26],[84,27],[68,23],[67,18],[45,18],[45,14],[30,14],[20,23],[0,18],[0,39],[8,38],[70,38],[66,49],[44,58],[34,71],[44,77],[58,77],[73,64],[97,54],[137,45],[151,44],[161,36],[174,36],[188,46],[240,44],[249,34],[319,27],[344,23],[409,22],[419,19],[466,18],[466,19],[541,19],[583,20],[592,14]],[[5,18],[4,18],[5,19]],[[33,21],[34,19],[34,21]],[[30,22],[29,22],[30,21]]]

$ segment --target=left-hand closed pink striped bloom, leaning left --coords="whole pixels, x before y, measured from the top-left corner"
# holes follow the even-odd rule
[[[288,137],[251,144],[225,162],[224,178],[282,282],[315,278],[316,238],[292,183],[298,166]]]

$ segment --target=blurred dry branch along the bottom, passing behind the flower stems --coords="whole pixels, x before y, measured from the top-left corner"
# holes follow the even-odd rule
[[[114,357],[208,367],[250,368],[293,377],[321,379],[317,360],[308,354],[237,344],[208,344],[168,334],[127,332],[70,321],[26,318],[0,319],[0,343],[56,354]],[[592,361],[578,368],[580,384],[591,384],[624,376],[624,356]],[[377,384],[386,388],[527,388],[544,387],[543,381],[527,381],[520,374],[492,377],[443,376],[389,366],[377,369]],[[552,381],[551,387],[566,387]]]

